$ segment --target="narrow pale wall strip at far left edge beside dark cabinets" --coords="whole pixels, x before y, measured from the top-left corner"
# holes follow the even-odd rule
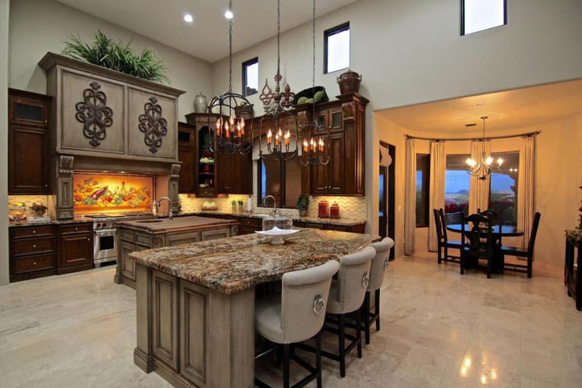
[[[8,284],[8,15],[10,1],[0,0],[0,285]]]

